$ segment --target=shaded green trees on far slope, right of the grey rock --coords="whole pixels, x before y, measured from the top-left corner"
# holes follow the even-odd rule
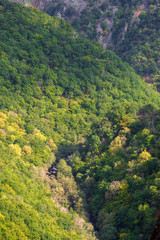
[[[116,12],[113,38],[115,43],[124,31],[125,24],[128,29],[123,41],[117,42],[116,52],[134,67],[136,72],[145,77],[145,80],[159,89],[159,21],[160,8],[156,1],[150,1],[146,11],[143,5],[131,1],[132,8],[126,14],[119,10]],[[121,10],[125,11],[123,6]],[[127,10],[126,10],[127,11]],[[118,40],[119,41],[119,40]]]

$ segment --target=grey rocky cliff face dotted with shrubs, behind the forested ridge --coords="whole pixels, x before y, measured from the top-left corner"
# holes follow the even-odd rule
[[[89,39],[115,49],[125,39],[130,27],[140,22],[140,15],[148,11],[149,5],[146,0],[56,0],[45,5],[44,11],[71,22]]]

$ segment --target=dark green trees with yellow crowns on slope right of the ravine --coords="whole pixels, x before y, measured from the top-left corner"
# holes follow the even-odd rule
[[[87,198],[92,214],[97,216],[100,239],[117,239],[118,233],[120,239],[143,236],[147,240],[152,233],[153,213],[159,208],[160,197],[158,119],[159,110],[151,105],[141,109],[137,119],[124,116],[108,151],[86,159],[84,175],[94,182]],[[143,125],[135,129],[136,122]],[[152,134],[155,141],[147,144]],[[108,213],[112,213],[113,220],[107,223]]]

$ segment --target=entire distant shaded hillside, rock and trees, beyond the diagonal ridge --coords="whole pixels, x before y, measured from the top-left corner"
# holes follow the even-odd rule
[[[160,4],[143,1],[21,1],[70,22],[79,33],[115,51],[159,91]]]

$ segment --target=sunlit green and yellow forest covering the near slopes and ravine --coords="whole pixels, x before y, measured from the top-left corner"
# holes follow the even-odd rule
[[[148,240],[160,95],[67,22],[0,0],[0,238]]]

